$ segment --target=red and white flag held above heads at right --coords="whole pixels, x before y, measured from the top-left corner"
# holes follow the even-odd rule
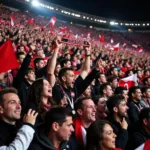
[[[137,82],[137,75],[134,74],[132,76],[121,79],[119,81],[119,86],[126,87],[127,89],[129,89],[132,86],[135,86],[136,82]]]

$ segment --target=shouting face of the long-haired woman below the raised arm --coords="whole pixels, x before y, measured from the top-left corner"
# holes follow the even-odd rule
[[[42,96],[47,98],[52,97],[52,87],[47,80],[43,80]]]

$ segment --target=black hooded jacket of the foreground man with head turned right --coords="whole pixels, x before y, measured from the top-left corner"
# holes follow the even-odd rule
[[[43,126],[38,127],[35,137],[28,150],[55,150],[47,135],[44,132]],[[68,142],[62,142],[60,150],[79,150],[76,143],[70,139]]]

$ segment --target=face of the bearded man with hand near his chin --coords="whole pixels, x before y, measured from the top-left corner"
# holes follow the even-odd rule
[[[118,107],[118,116],[120,117],[127,117],[128,116],[128,106],[126,104],[126,101],[123,100],[120,102],[119,107]]]

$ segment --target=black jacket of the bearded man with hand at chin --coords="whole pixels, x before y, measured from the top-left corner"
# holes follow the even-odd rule
[[[105,119],[111,123],[114,133],[117,135],[116,147],[124,150],[128,141],[128,131],[125,129],[122,129],[119,122],[116,122],[112,116],[108,116]]]

